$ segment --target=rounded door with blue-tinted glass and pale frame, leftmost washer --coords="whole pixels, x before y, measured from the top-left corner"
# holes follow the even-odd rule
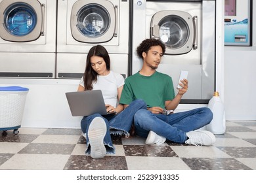
[[[0,37],[5,41],[35,41],[41,35],[41,3],[37,0],[3,0],[0,3]]]

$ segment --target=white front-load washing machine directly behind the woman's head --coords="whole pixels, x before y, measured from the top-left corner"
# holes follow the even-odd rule
[[[111,69],[127,76],[130,6],[129,0],[58,1],[57,78],[80,78],[96,44],[108,50]]]

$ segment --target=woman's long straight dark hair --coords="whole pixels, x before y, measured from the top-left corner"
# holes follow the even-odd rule
[[[97,81],[98,73],[96,73],[91,66],[92,56],[98,56],[103,58],[106,63],[106,69],[110,71],[110,56],[108,55],[108,51],[106,50],[106,48],[101,45],[93,46],[89,50],[89,53],[87,55],[85,73],[83,74],[85,90],[93,90],[93,82]]]

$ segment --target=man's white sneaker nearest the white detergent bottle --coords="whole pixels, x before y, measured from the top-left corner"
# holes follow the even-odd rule
[[[216,138],[210,131],[189,131],[186,133],[188,140],[186,144],[195,146],[211,146],[215,143]]]

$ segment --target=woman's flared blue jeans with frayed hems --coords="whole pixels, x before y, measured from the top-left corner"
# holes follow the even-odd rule
[[[119,112],[116,115],[106,115],[102,116],[100,114],[93,114],[91,116],[84,116],[81,120],[81,129],[83,133],[86,133],[87,137],[87,150],[85,150],[86,154],[91,154],[90,139],[88,138],[88,129],[89,125],[93,121],[94,118],[100,117],[103,118],[106,123],[106,135],[104,137],[104,145],[106,147],[107,154],[114,154],[115,148],[112,144],[112,140],[110,134],[114,135],[126,135],[129,136],[129,130],[131,129],[131,125],[133,124],[133,117],[135,113],[141,108],[146,109],[146,103],[144,101],[137,99],[133,101],[125,110]]]

